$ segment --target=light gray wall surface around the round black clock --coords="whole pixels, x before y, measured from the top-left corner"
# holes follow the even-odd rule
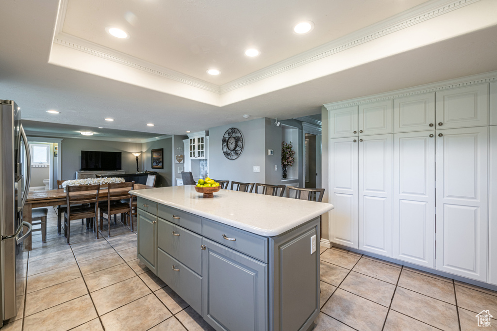
[[[266,180],[265,155],[267,155],[267,149],[265,148],[265,127],[266,119],[261,118],[210,128],[209,177],[218,180],[229,180],[230,182],[264,183]],[[240,130],[244,138],[244,149],[235,160],[227,159],[221,148],[223,135],[230,128]],[[281,140],[279,144],[281,144]],[[281,151],[279,155],[281,156]],[[253,172],[253,166],[259,166],[260,172]]]

